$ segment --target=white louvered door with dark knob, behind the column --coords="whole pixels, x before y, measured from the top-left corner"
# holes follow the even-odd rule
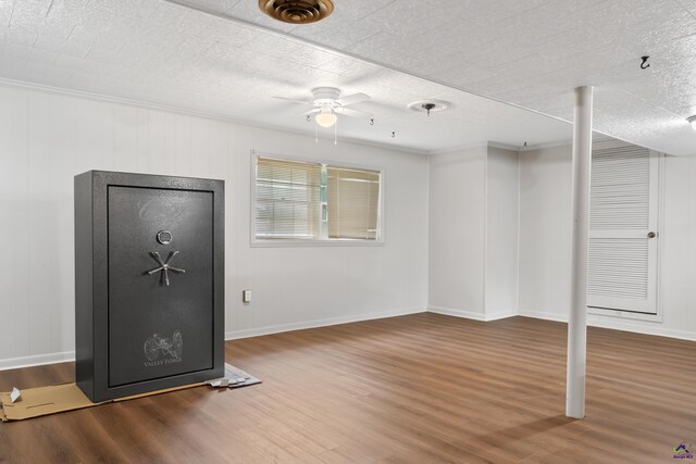
[[[587,305],[657,313],[659,153],[604,142],[592,160]]]

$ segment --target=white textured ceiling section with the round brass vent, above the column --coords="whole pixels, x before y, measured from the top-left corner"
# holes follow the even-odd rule
[[[256,1],[186,2],[564,121],[593,85],[597,130],[696,154],[694,0],[336,0],[300,27]]]

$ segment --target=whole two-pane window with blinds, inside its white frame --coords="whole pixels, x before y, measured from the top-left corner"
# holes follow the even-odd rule
[[[254,241],[381,240],[382,173],[254,156]]]

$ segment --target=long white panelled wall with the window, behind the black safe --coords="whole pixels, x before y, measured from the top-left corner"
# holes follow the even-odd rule
[[[384,170],[386,243],[251,248],[251,149]],[[425,156],[0,86],[0,368],[73,355],[73,176],[88,170],[225,180],[227,337],[426,308]]]

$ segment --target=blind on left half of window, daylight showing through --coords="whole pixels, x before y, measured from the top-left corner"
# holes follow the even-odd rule
[[[257,158],[257,238],[319,238],[321,171],[318,163]]]

